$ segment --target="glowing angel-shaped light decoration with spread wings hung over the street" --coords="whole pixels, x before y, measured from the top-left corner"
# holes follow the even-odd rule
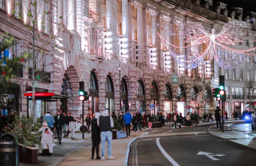
[[[255,31],[250,31],[240,25],[226,23],[221,32],[215,33],[215,29],[212,29],[211,33],[207,33],[204,31],[204,27],[198,23],[182,22],[175,19],[172,19],[171,23],[171,26],[164,27],[164,30],[183,41],[185,46],[175,46],[163,39],[160,34],[158,35],[170,54],[178,61],[179,66],[184,68],[196,68],[204,62],[204,58],[207,56],[209,60],[215,58],[222,68],[232,69],[244,60],[252,60],[252,56],[254,56],[252,52],[256,47],[237,48],[241,47],[242,37],[256,35]],[[202,47],[204,50],[201,49]]]

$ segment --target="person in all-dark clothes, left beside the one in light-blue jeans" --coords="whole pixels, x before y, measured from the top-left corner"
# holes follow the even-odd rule
[[[94,159],[94,153],[96,149],[96,160],[99,160],[99,143],[100,143],[100,130],[99,126],[97,125],[97,119],[99,118],[100,113],[96,112],[95,117],[92,120],[92,142],[93,142],[93,147],[92,147],[92,160]]]

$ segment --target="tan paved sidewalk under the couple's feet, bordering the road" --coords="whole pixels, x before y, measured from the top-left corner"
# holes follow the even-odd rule
[[[63,160],[59,166],[122,166],[124,165],[125,158],[127,155],[127,148],[131,141],[135,140],[140,135],[146,134],[147,132],[131,133],[131,137],[126,137],[118,140],[112,140],[112,156],[113,160],[108,160],[108,143],[106,142],[105,158],[106,160],[91,160],[92,146],[86,146],[73,153],[65,160]],[[96,153],[96,152],[95,152]],[[101,156],[101,144],[99,146],[99,155]],[[96,154],[94,156],[96,158]]]

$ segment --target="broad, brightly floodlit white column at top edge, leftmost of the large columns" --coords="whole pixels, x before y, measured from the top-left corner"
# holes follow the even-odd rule
[[[67,30],[76,31],[76,0],[67,0]]]

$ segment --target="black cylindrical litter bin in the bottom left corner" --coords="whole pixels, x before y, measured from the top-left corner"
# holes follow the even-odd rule
[[[0,166],[19,166],[18,145],[12,133],[0,137]]]

